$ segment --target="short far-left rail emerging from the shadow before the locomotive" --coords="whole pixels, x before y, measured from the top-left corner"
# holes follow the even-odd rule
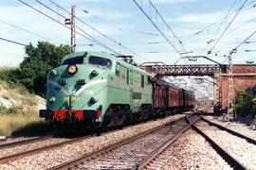
[[[32,139],[27,139],[27,140],[23,140],[23,141],[16,141],[13,143],[7,143],[7,144],[0,144],[0,149],[4,149],[4,148],[8,148],[8,147],[14,147],[20,144],[30,144],[30,143],[35,143],[35,142],[39,142],[39,141],[45,141],[47,139],[52,138],[53,135],[47,135],[47,136],[42,136],[42,137],[36,137],[36,138],[32,138]]]

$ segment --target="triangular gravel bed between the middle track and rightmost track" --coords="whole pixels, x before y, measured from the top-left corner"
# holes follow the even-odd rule
[[[185,132],[146,169],[231,169],[229,164],[196,132]]]

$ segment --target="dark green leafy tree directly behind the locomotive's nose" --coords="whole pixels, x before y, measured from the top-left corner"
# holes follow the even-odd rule
[[[32,43],[27,45],[25,51],[27,56],[20,64],[20,82],[30,92],[45,97],[47,73],[61,64],[61,59],[69,54],[69,46],[38,42],[37,47]]]

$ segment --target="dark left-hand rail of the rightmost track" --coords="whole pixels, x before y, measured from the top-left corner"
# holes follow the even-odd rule
[[[188,120],[189,121],[189,120]],[[246,170],[247,168],[234,159],[224,148],[222,148],[219,144],[215,143],[206,133],[204,133],[201,129],[196,127],[195,125],[192,124],[192,129],[194,129],[197,133],[199,133],[201,136],[203,136],[207,142],[210,143],[212,148],[225,160],[229,163],[231,167],[234,169],[239,169],[239,170]]]

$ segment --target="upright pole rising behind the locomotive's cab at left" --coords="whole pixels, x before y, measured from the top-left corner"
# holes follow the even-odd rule
[[[70,25],[71,40],[70,40],[70,51],[74,53],[76,51],[76,6],[71,7],[71,18],[64,20],[65,25]]]

